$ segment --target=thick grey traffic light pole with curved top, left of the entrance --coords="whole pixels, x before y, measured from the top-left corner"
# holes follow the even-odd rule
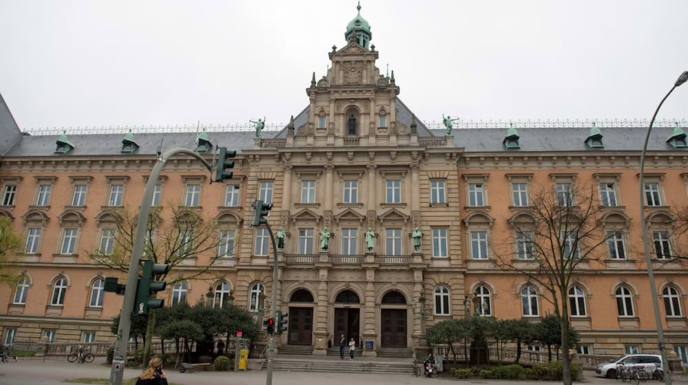
[[[122,304],[122,312],[120,314],[120,325],[117,327],[117,340],[115,342],[115,351],[112,360],[112,367],[110,369],[110,385],[122,385],[122,377],[125,373],[125,360],[127,358],[127,344],[129,344],[129,332],[131,331],[131,312],[133,311],[134,302],[136,302],[136,283],[138,282],[138,265],[143,254],[144,239],[146,238],[146,224],[148,215],[151,212],[151,203],[153,202],[153,191],[155,184],[158,183],[158,176],[167,159],[174,155],[186,154],[191,155],[199,160],[208,170],[213,173],[213,166],[203,159],[201,155],[189,150],[188,148],[172,148],[166,151],[158,158],[158,162],[153,166],[153,171],[148,177],[146,190],[143,192],[143,201],[141,202],[140,213],[138,215],[138,223],[136,224],[136,234],[134,236],[133,250],[131,251],[131,261],[129,262],[129,274],[127,275],[127,288],[125,289],[125,299]],[[269,228],[268,228],[269,229]],[[272,235],[272,232],[270,232]],[[275,244],[273,239],[272,244]],[[277,252],[275,252],[277,253]],[[275,254],[277,256],[277,254]],[[273,309],[273,312],[275,310]],[[148,363],[144,362],[144,366]]]

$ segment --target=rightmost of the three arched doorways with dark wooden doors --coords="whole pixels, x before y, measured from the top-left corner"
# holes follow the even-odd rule
[[[380,309],[380,346],[405,348],[407,347],[407,309],[406,297],[392,290],[383,296]]]

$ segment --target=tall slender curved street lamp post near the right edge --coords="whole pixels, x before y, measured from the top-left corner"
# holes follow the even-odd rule
[[[678,77],[674,87],[671,87],[667,95],[662,99],[662,101],[657,106],[657,109],[652,115],[652,120],[649,122],[649,127],[647,127],[647,135],[645,135],[645,144],[643,144],[643,153],[641,153],[641,170],[640,170],[640,201],[641,201],[641,232],[643,233],[643,247],[645,248],[645,261],[647,262],[647,278],[649,278],[649,289],[652,296],[652,307],[654,308],[654,320],[657,325],[657,339],[659,352],[662,355],[662,363],[664,367],[664,382],[667,385],[671,385],[671,370],[669,369],[669,363],[667,362],[667,352],[665,351],[664,344],[664,330],[662,327],[662,316],[659,312],[659,301],[657,300],[656,287],[654,285],[654,273],[652,272],[652,257],[649,255],[649,245],[647,243],[647,228],[645,225],[645,181],[643,178],[643,173],[645,171],[645,153],[647,153],[647,142],[649,141],[649,134],[652,132],[652,124],[654,124],[654,119],[657,117],[659,109],[664,104],[664,101],[669,98],[671,92],[676,89],[676,87],[682,85],[688,80],[688,71],[685,71]]]

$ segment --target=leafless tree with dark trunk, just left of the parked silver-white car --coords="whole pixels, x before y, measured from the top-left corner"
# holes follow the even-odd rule
[[[568,294],[574,276],[591,261],[603,263],[605,234],[599,198],[592,186],[571,183],[539,186],[530,206],[508,221],[511,235],[493,246],[495,265],[539,286],[561,320],[563,383],[570,385],[570,313]]]

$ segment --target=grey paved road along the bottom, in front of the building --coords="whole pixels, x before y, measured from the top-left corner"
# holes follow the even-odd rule
[[[103,364],[69,364],[67,362],[9,362],[0,364],[0,385],[65,385],[63,380],[76,377],[107,378],[110,369]],[[136,377],[140,371],[127,369],[125,377]],[[265,371],[247,372],[199,372],[179,373],[168,371],[170,382],[184,385],[264,385]],[[678,379],[677,379],[678,380]],[[413,377],[411,375],[379,375],[379,374],[350,374],[350,373],[309,373],[309,372],[279,372],[272,378],[275,385],[325,385],[325,384],[374,384],[374,385],[428,385],[428,384],[561,384],[561,382],[513,382],[501,380],[453,380],[447,376],[443,379]],[[675,381],[677,382],[677,381]],[[685,380],[682,384],[687,384]],[[677,382],[678,383],[678,382]],[[594,373],[585,372],[585,384],[617,385],[614,380],[595,377]],[[648,382],[648,385],[660,382]]]

